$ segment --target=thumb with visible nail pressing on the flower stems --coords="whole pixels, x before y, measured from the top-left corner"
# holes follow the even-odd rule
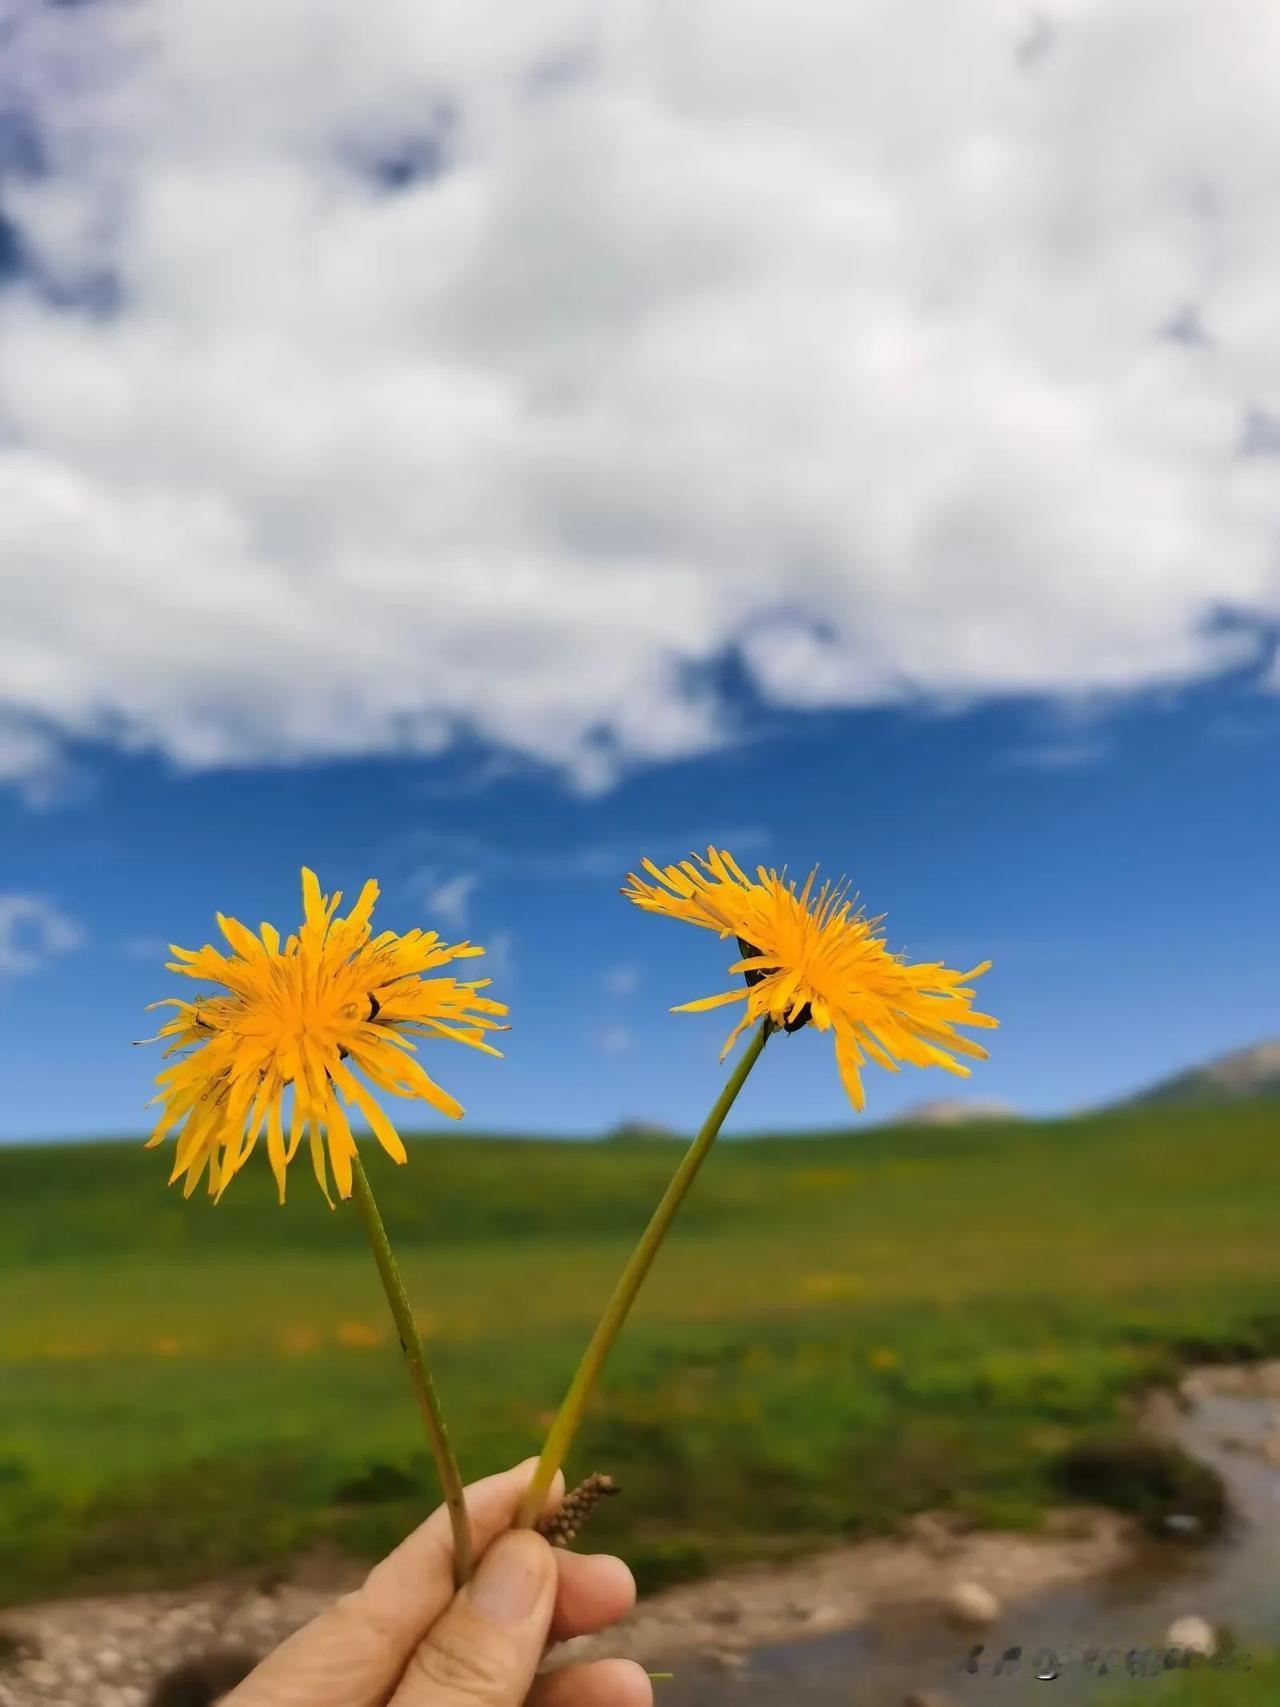
[[[555,1598],[555,1555],[541,1535],[500,1535],[413,1651],[391,1707],[519,1707]]]

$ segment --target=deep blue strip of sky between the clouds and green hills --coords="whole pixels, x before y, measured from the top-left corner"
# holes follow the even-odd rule
[[[474,753],[174,775],[80,751],[61,804],[3,804],[0,891],[41,894],[80,941],[0,982],[0,1130],[138,1132],[157,1058],[130,1043],[177,982],[162,942],[208,941],[215,908],[287,923],[304,860],[348,893],[377,876],[393,927],[495,949],[505,1058],[439,1045],[433,1062],[476,1130],[700,1118],[727,1022],[667,1007],[727,987],[727,947],[616,889],[640,855],[708,840],[848,872],[913,956],[995,961],[983,1005],[1002,1029],[961,1094],[1079,1108],[1280,1029],[1280,702],[1248,678],[1072,720],[744,708],[741,729],[596,797]],[[870,1069],[869,1118],[956,1089]],[[826,1041],[800,1034],[771,1048],[736,1125],[850,1118]]]

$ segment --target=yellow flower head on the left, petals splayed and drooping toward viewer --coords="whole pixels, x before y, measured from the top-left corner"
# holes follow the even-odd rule
[[[179,949],[169,971],[222,992],[193,1002],[169,997],[154,1007],[176,1016],[157,1038],[172,1067],[157,1074],[164,1113],[148,1140],[177,1128],[174,1180],[189,1197],[208,1169],[208,1190],[222,1197],[247,1161],[259,1132],[285,1200],[285,1171],[305,1133],[311,1161],[329,1198],[328,1162],[340,1197],[352,1195],[355,1139],[345,1113],[358,1108],[382,1149],[398,1162],[404,1145],[369,1084],[393,1096],[416,1096],[457,1116],[461,1104],[415,1058],[413,1036],[452,1038],[488,1055],[486,1031],[505,1031],[502,1002],[480,992],[488,978],[459,983],[433,978],[437,968],[483,954],[469,942],[447,944],[433,930],[374,935],[377,884],[369,881],[345,917],[341,893],[321,894],[316,874],[302,872],[304,922],[280,944],[273,925],[254,935],[236,918],[217,915],[230,954],[212,946]],[[357,1077],[364,1075],[364,1081]],[[292,1087],[288,1133],[285,1092]],[[331,1198],[329,1198],[331,1202]]]

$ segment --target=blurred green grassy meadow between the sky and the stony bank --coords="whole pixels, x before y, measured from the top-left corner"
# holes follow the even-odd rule
[[[649,1586],[951,1507],[1034,1524],[1179,1360],[1280,1350],[1280,1104],[722,1144],[575,1463]],[[375,1186],[468,1475],[536,1451],[676,1161],[422,1140]],[[427,1461],[350,1210],[0,1151],[0,1603],[374,1553]]]

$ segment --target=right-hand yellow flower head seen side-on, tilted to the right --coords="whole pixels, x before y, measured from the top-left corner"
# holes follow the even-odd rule
[[[886,949],[876,929],[881,920],[857,910],[847,886],[824,883],[814,891],[816,872],[809,872],[797,893],[785,872],[759,865],[753,881],[732,855],[717,848],[708,848],[707,859],[679,865],[645,860],[643,869],[655,881],[628,874],[623,889],[628,901],[737,937],[742,958],[729,971],[744,973],[744,983],[672,1009],[696,1014],[746,1002],[725,1055],[759,1019],[787,1031],[806,1024],[831,1031],[840,1077],[857,1110],[865,1104],[867,1058],[891,1072],[898,1062],[910,1062],[963,1077],[969,1069],[956,1055],[986,1058],[986,1050],[956,1028],[998,1024],[975,1012],[973,990],[966,988],[990,961],[964,973],[939,963],[908,964]]]

